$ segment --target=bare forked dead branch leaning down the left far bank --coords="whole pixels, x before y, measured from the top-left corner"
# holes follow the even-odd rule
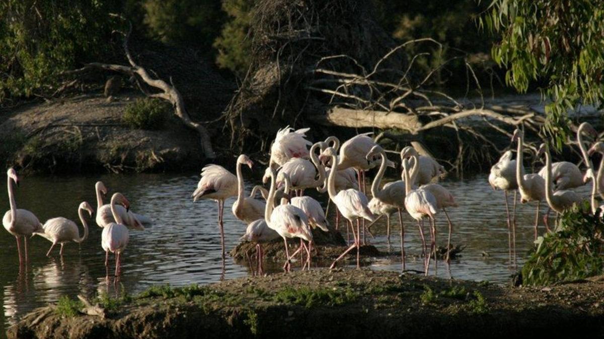
[[[143,91],[143,93],[145,93],[145,95],[152,98],[161,98],[170,101],[170,103],[172,103],[175,108],[176,116],[178,116],[178,118],[180,118],[182,122],[187,125],[187,127],[196,130],[199,133],[199,137],[201,139],[201,147],[205,157],[208,159],[216,158],[216,154],[214,153],[214,150],[212,148],[212,143],[210,135],[208,134],[208,130],[204,127],[204,125],[199,124],[199,122],[191,120],[190,116],[187,113],[187,110],[185,109],[185,103],[182,98],[182,95],[178,91],[178,89],[176,89],[176,86],[174,86],[172,79],[170,79],[169,84],[159,78],[153,78],[151,77],[151,75],[149,75],[147,69],[143,68],[140,65],[137,65],[137,63],[134,61],[128,48],[128,40],[130,38],[131,33],[132,24],[130,23],[128,33],[124,34],[123,44],[124,52],[126,53],[126,57],[128,59],[128,62],[130,63],[130,66],[93,62],[84,65],[80,69],[63,72],[62,75],[80,74],[83,72],[87,72],[89,69],[104,69],[106,71],[120,72],[123,74],[134,76],[137,80],[139,88],[141,89],[141,91]],[[144,86],[141,86],[140,80],[142,80],[145,84],[150,87],[161,90],[161,92],[151,93],[147,91]]]

